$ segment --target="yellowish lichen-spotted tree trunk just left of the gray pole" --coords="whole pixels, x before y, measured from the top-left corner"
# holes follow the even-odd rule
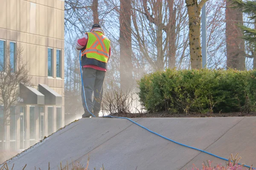
[[[202,68],[202,47],[200,41],[201,6],[197,0],[186,0],[189,14],[189,50],[191,68]]]

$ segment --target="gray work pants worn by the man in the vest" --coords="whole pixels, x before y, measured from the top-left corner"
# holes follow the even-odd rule
[[[84,82],[84,92],[82,88],[81,96],[83,101],[84,113],[86,114],[85,116],[90,115],[90,113],[87,111],[84,102],[84,93],[89,111],[95,116],[99,116],[103,96],[103,83],[105,79],[105,73],[105,71],[99,71],[93,68],[83,68],[82,74]]]

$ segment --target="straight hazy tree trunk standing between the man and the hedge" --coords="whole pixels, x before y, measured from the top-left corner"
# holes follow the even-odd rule
[[[120,0],[120,84],[126,91],[132,88],[131,0]]]

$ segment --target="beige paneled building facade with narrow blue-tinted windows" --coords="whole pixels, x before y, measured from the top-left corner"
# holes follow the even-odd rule
[[[4,150],[26,149],[64,126],[64,0],[0,0],[0,62],[22,49],[32,87],[20,84]],[[13,67],[17,61],[11,61]],[[3,71],[3,70],[2,70]],[[0,103],[0,118],[3,105]]]

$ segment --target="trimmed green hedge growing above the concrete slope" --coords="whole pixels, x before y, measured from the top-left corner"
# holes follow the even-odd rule
[[[147,111],[249,112],[256,104],[256,71],[167,69],[138,82]]]

